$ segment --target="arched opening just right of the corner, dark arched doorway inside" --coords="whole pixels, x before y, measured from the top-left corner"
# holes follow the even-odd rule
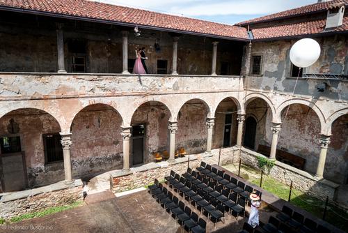
[[[272,121],[272,111],[262,98],[253,98],[246,103],[246,121],[244,123],[243,146],[269,156],[271,146],[269,132]],[[264,148],[267,147],[266,150]]]

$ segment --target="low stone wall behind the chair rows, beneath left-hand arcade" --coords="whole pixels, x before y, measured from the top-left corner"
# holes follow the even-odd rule
[[[221,149],[220,164],[236,163],[239,161],[238,153],[235,153],[235,147],[229,147]],[[190,160],[189,167],[194,168],[200,165],[203,160],[208,164],[217,164],[219,161],[219,149],[212,150],[210,155],[205,153],[200,153],[194,155],[195,160]],[[186,156],[187,158],[187,156]],[[155,169],[141,170],[140,172],[132,172],[132,174],[126,176],[114,176],[113,177],[113,192],[119,193],[125,190],[140,188],[153,183],[154,179],[163,180],[164,176],[168,176],[173,170],[179,174],[187,171],[187,160],[182,163],[166,163],[163,167],[158,167]]]

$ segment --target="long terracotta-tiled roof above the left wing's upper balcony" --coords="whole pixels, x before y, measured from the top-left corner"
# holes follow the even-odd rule
[[[348,1],[348,0],[347,0]],[[247,39],[246,29],[188,17],[115,6],[86,0],[0,0],[0,6],[38,10],[61,15],[93,18],[151,26],[162,29],[203,33],[226,38]]]

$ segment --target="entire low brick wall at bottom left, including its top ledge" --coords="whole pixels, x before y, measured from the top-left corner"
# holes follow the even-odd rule
[[[50,207],[81,201],[84,198],[82,182],[81,180],[75,181],[75,184],[68,187],[62,183],[56,183],[52,186],[17,192],[13,194],[13,197],[5,196],[6,198],[3,197],[0,201],[0,218],[10,219],[24,213],[43,211]],[[54,190],[49,190],[49,188]]]

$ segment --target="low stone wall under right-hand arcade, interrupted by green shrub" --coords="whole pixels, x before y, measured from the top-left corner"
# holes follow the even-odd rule
[[[262,156],[260,153],[248,149],[241,150],[242,163],[251,167],[258,167],[257,156]],[[326,180],[317,180],[312,174],[308,172],[303,172],[294,167],[286,165],[284,163],[276,162],[276,165],[271,169],[269,175],[290,186],[292,181],[292,186],[297,190],[301,190],[310,196],[317,197],[320,200],[326,200],[329,197],[331,200],[335,197],[335,190],[338,185]]]

